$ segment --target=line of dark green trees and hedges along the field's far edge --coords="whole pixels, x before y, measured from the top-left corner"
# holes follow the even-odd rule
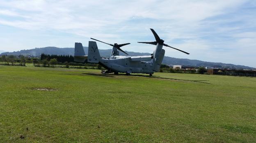
[[[2,55],[0,56],[0,62],[2,65],[21,65],[25,66],[26,63],[33,63],[34,66],[37,67],[66,67],[69,68],[70,66],[76,66],[75,68],[85,68],[88,67],[94,68],[94,69],[103,69],[101,65],[98,64],[92,64],[92,63],[75,63],[73,62],[74,57],[72,55],[49,55],[49,54],[41,54],[40,58],[33,58],[33,57],[25,57],[23,55],[20,56],[14,56],[14,55]],[[0,63],[1,64],[1,63]],[[64,65],[64,66],[63,66]],[[206,69],[204,67],[199,67],[196,69],[173,69],[172,67],[169,67],[168,65],[161,65],[160,72],[171,72],[171,73],[199,73],[203,74],[206,73]]]

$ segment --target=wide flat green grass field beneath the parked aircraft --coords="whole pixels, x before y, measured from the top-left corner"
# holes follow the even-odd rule
[[[0,142],[38,141],[255,142],[256,78],[0,66]]]

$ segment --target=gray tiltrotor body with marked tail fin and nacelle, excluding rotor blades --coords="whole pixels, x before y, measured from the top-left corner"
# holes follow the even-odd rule
[[[111,58],[101,58],[96,42],[89,41],[88,62],[99,63],[109,72],[153,74],[160,69],[165,54],[162,46],[160,44],[156,45],[153,56],[111,56]],[[145,62],[149,60],[151,62]]]

